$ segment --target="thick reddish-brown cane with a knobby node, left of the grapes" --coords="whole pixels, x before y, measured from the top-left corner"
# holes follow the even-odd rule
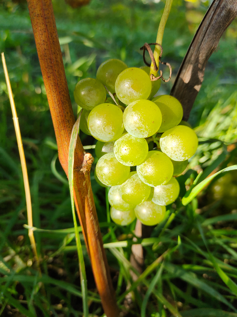
[[[68,151],[75,123],[51,0],[27,0],[40,67],[52,115],[60,163],[68,175]],[[74,161],[74,196],[95,282],[107,317],[119,315],[90,184],[93,161],[78,138]]]

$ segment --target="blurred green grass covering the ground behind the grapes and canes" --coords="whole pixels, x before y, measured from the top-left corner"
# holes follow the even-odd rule
[[[162,58],[172,64],[174,74],[199,23],[191,21],[191,13],[202,16],[207,5],[202,3],[195,8],[191,3],[173,3]],[[95,77],[101,61],[115,57],[129,66],[142,65],[139,47],[144,42],[154,42],[163,3],[92,1],[89,6],[73,10],[55,0],[54,7],[73,100],[79,77]],[[42,271],[40,276],[27,236],[21,165],[0,68],[0,315],[11,312],[17,317],[82,316],[69,186],[56,159],[57,147],[27,8],[9,1],[1,4],[0,16],[0,49],[9,65],[21,127]],[[106,255],[119,306],[127,317],[139,317],[141,312],[143,317],[237,316],[235,171],[221,173],[186,206],[181,203],[186,189],[197,189],[193,188],[195,180],[195,186],[201,186],[217,169],[237,163],[233,84],[237,75],[236,32],[234,21],[210,58],[193,107],[189,122],[200,145],[189,169],[178,177],[180,198],[168,206],[166,219],[152,230],[151,237],[137,240],[145,255],[141,275],[130,263],[135,223],[119,227],[110,222],[106,189],[95,182],[95,165],[92,166],[94,199]],[[161,94],[168,93],[171,85],[172,80],[166,86],[162,84]],[[75,103],[73,106],[76,114]],[[94,145],[91,137],[83,133],[80,137],[83,145]],[[93,148],[88,151],[94,155]],[[87,275],[89,314],[103,316],[80,227],[78,233]],[[131,270],[139,275],[137,281],[133,281]]]

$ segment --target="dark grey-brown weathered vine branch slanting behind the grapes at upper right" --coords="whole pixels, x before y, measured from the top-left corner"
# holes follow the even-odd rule
[[[209,57],[236,16],[236,0],[214,0],[200,23],[170,92],[183,106],[183,120],[189,118],[194,100],[202,86]]]

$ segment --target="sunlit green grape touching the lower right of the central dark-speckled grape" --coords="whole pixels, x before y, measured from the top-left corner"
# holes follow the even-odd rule
[[[173,164],[164,153],[149,151],[146,160],[137,166],[137,174],[149,186],[164,185],[173,175]]]

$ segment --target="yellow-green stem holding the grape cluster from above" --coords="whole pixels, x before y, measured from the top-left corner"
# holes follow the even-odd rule
[[[169,13],[170,13],[172,2],[173,2],[173,0],[166,0],[165,9],[164,9],[164,12],[163,12],[162,17],[161,17],[161,22],[159,24],[157,37],[156,37],[156,43],[158,43],[160,45],[162,45],[164,29],[165,29],[166,21],[168,19]],[[158,70],[159,70],[159,56],[160,56],[160,54],[161,54],[161,48],[160,48],[160,46],[156,45],[155,50],[154,50],[154,58],[155,58],[155,62],[156,62],[158,69],[157,69],[157,71],[154,70],[154,65],[152,62],[151,62],[151,68],[150,68],[150,74],[153,74],[155,76],[157,75]]]

